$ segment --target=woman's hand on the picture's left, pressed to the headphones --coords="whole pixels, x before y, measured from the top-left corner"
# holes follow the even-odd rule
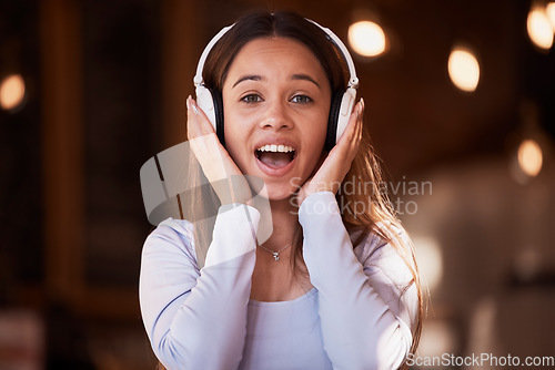
[[[191,96],[186,99],[186,137],[220,202],[246,204],[252,198],[249,183],[218,140],[209,119]]]

